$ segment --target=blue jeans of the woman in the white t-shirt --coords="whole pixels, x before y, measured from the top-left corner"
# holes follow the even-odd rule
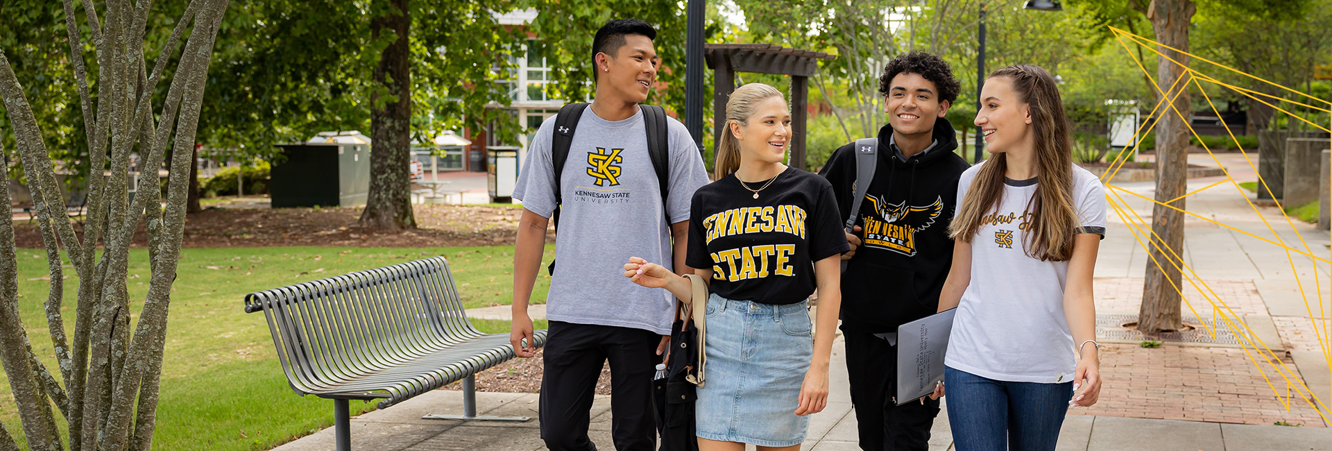
[[[1072,384],[1003,382],[944,367],[948,424],[956,450],[1054,451]]]

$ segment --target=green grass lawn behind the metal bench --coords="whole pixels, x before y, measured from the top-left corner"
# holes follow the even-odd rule
[[[547,246],[545,261],[553,254],[554,246]],[[244,295],[434,255],[449,259],[458,294],[469,309],[510,303],[511,246],[185,249],[172,289],[153,448],[268,450],[333,424],[330,400],[297,396],[288,386],[268,325],[262,314],[244,313]],[[41,277],[47,274],[43,250],[19,249],[20,317],[33,351],[52,371],[59,371],[41,307],[48,287]],[[65,327],[73,334],[77,277],[68,265],[65,274],[69,275]],[[145,250],[131,251],[129,274],[131,307],[137,319],[148,291]],[[534,303],[545,302],[549,281],[537,279]],[[473,323],[486,333],[509,330],[507,321]],[[545,327],[545,322],[535,327]],[[4,374],[0,374],[0,399],[13,406]],[[352,408],[368,411],[373,404],[353,402]],[[11,434],[23,434],[15,410],[0,408],[0,422]]]

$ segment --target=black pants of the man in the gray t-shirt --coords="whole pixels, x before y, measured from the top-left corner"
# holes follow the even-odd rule
[[[655,333],[551,321],[541,379],[541,439],[550,451],[594,451],[589,411],[602,365],[610,361],[610,414],[615,450],[657,447],[653,375],[661,357]]]

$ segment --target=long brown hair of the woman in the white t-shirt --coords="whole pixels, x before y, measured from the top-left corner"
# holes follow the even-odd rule
[[[1072,142],[1068,118],[1059,98],[1055,78],[1046,69],[1031,64],[1010,65],[990,73],[1012,82],[1014,92],[1030,106],[1031,128],[1036,133],[1036,194],[1024,213],[1027,220],[1024,247],[1027,255],[1042,261],[1066,261],[1072,257],[1078,214],[1072,197]],[[958,214],[948,226],[954,239],[971,242],[980,230],[982,217],[1003,198],[1007,161],[995,153],[971,181]]]

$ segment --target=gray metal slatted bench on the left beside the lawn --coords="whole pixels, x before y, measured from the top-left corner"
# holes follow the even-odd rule
[[[462,415],[477,416],[476,374],[514,358],[509,334],[482,334],[468,321],[444,257],[377,267],[245,295],[264,311],[278,361],[298,395],[333,399],[337,448],[350,450],[348,400],[380,408],[462,380]],[[537,346],[546,331],[535,333]]]

